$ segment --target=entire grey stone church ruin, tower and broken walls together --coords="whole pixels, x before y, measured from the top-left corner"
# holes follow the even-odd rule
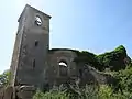
[[[18,20],[10,67],[11,87],[1,92],[0,99],[32,99],[36,88],[43,90],[78,78],[81,86],[90,81],[107,82],[105,76],[94,75],[96,69],[90,72],[85,62],[77,59],[79,56],[75,50],[50,50],[50,15],[25,6]]]

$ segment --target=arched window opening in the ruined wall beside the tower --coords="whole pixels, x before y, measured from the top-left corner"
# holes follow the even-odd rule
[[[59,65],[59,76],[67,76],[67,70],[68,70],[67,63],[64,61],[61,61],[58,65]]]

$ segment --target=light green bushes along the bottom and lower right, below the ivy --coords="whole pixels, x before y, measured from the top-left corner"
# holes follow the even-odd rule
[[[48,92],[36,91],[33,99],[132,99],[132,65],[128,66],[125,69],[119,72],[111,72],[117,78],[121,78],[121,87],[123,89],[123,95],[121,91],[113,94],[113,89],[107,85],[100,85],[98,91],[94,91],[90,86],[86,88],[78,88],[78,95],[72,92],[66,92],[66,90],[52,89]]]

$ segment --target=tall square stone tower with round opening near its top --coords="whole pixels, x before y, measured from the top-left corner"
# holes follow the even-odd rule
[[[50,50],[51,16],[26,4],[18,22],[11,63],[11,85],[34,85],[43,81]]]

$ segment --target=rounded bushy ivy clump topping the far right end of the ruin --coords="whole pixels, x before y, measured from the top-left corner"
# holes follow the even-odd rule
[[[112,70],[120,70],[127,67],[124,59],[129,57],[125,47],[120,45],[112,52],[98,55],[97,58],[103,68],[110,67]]]

